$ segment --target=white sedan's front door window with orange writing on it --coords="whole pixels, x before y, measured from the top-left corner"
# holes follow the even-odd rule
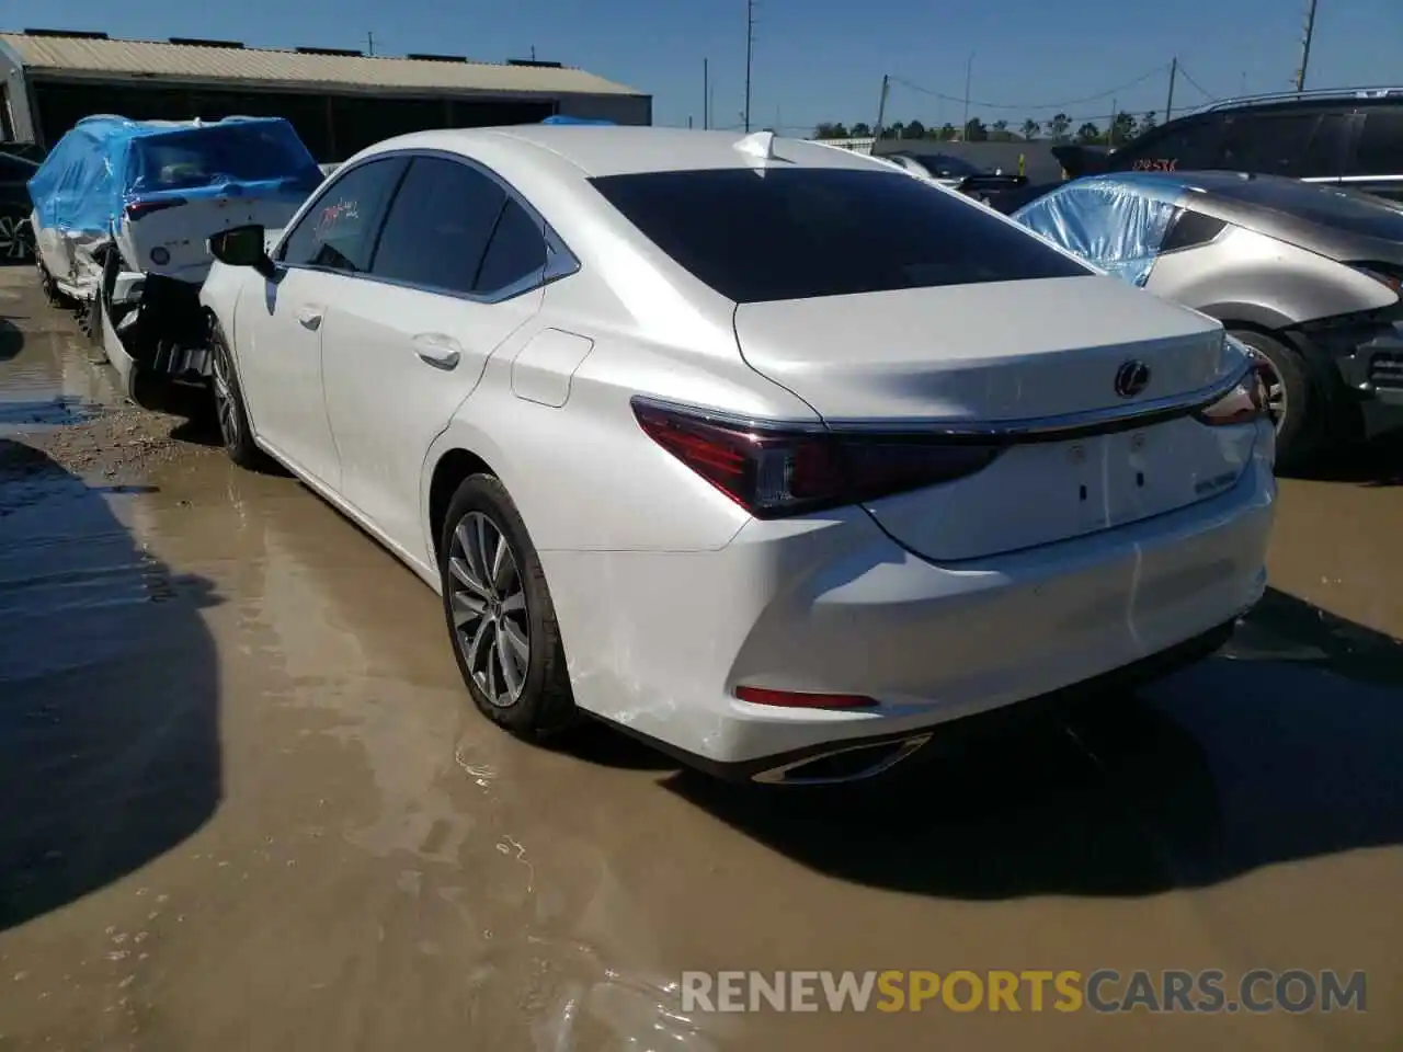
[[[278,250],[278,259],[289,267],[368,271],[405,164],[404,157],[384,157],[348,170],[302,215]]]

